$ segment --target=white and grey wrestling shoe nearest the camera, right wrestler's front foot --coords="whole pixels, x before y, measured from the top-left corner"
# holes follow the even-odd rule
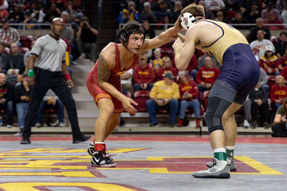
[[[230,178],[229,165],[214,158],[213,165],[210,168],[196,171],[192,176],[196,178]]]

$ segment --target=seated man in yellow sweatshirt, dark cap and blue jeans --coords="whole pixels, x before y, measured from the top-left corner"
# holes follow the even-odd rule
[[[155,111],[160,109],[167,109],[170,111],[170,118],[168,120],[169,127],[175,126],[175,115],[179,107],[178,99],[179,85],[173,82],[175,76],[171,72],[164,75],[164,79],[154,83],[150,91],[150,99],[146,101],[146,107],[150,115],[150,127],[158,125]]]

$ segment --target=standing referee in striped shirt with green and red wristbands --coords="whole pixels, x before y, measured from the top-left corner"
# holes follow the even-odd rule
[[[67,72],[67,64],[65,62],[67,45],[65,41],[60,38],[64,26],[61,18],[53,19],[51,33],[38,38],[31,50],[28,63],[28,85],[34,86],[34,88],[25,117],[21,144],[31,143],[30,135],[34,117],[46,92],[50,88],[67,109],[73,132],[73,143],[87,141],[91,137],[90,135],[85,136],[81,133],[75,101],[69,89],[73,87],[73,82]],[[34,77],[34,62],[38,57],[40,58],[38,60],[38,71],[36,77]],[[62,73],[65,74],[65,80]]]

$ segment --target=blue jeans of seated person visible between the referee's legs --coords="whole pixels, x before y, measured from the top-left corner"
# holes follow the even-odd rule
[[[48,105],[48,103],[45,101],[41,102],[40,107],[39,107],[37,114],[36,114],[36,121],[35,121],[36,123],[42,122],[42,115],[43,115],[45,108],[56,109],[59,122],[64,122],[64,120],[63,120],[64,119],[64,105],[61,102],[61,100],[57,100],[56,105],[52,105],[52,104]]]

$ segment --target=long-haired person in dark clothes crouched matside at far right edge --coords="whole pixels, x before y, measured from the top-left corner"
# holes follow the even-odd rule
[[[287,116],[287,99],[284,98],[282,105],[278,108],[274,124],[271,126],[272,137],[287,137],[286,129],[286,116]]]

